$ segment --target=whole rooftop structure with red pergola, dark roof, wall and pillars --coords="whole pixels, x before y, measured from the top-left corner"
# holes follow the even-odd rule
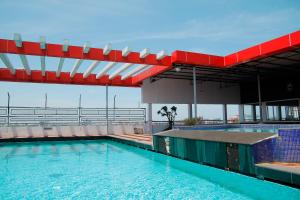
[[[23,66],[13,66],[8,54],[18,55]],[[34,63],[39,70],[31,69],[27,56],[40,58]],[[57,58],[56,68],[47,66],[46,57]],[[241,122],[244,105],[252,106],[253,121],[299,121],[300,31],[226,56],[73,46],[67,40],[52,44],[45,37],[25,41],[15,34],[13,40],[0,39],[0,59],[0,81],[140,87],[149,121],[152,103],[187,104],[190,118],[198,116],[197,104],[223,104],[225,123],[227,104],[240,105]],[[66,59],[76,59],[70,71],[64,71]],[[79,73],[87,60],[91,65]]]

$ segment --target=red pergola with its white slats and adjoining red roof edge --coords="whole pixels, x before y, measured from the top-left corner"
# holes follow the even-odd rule
[[[4,67],[0,68],[0,81],[79,84],[79,85],[110,85],[140,87],[143,80],[171,70],[178,64],[194,67],[228,69],[243,63],[252,62],[272,55],[300,48],[300,31],[252,46],[227,56],[216,56],[186,51],[174,51],[171,56],[165,51],[151,54],[148,49],[132,52],[128,48],[113,50],[110,45],[103,49],[91,48],[88,44],[83,47],[65,44],[22,41],[20,35],[14,40],[0,39],[0,59]],[[23,64],[22,69],[12,66],[6,54],[17,54]],[[41,69],[31,70],[26,56],[39,56]],[[46,70],[45,57],[59,58],[55,71]],[[64,59],[76,59],[70,72],[64,72]],[[78,68],[85,60],[93,63],[84,73],[78,73]],[[100,62],[106,66],[99,73],[93,73]],[[122,63],[116,68],[117,63]],[[121,75],[129,67],[138,65],[127,74]],[[115,67],[115,72],[108,74]]]

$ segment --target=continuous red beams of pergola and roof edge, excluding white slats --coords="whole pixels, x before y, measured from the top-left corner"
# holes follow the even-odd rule
[[[208,66],[217,68],[228,68],[238,65],[240,63],[249,62],[258,58],[267,57],[270,55],[286,52],[295,48],[300,48],[300,31],[284,35],[282,37],[264,42],[259,45],[238,51],[227,56],[216,56],[202,53],[174,51],[172,56],[166,56],[162,60],[157,60],[155,54],[150,54],[146,58],[141,59],[138,52],[131,52],[127,57],[122,57],[122,51],[112,50],[107,56],[103,55],[103,50],[98,48],[91,48],[86,54],[83,53],[83,47],[69,46],[68,51],[63,51],[63,45],[60,44],[46,44],[46,49],[40,48],[38,42],[23,42],[23,47],[16,47],[15,41],[0,39],[0,53],[24,54],[34,56],[50,56],[50,57],[64,57],[76,59],[88,59],[111,62],[124,62],[135,64],[154,65],[150,69],[135,75],[131,78],[121,81],[120,76],[112,81],[108,77],[96,80],[95,75],[91,75],[87,79],[83,79],[82,74],[76,74],[73,79],[69,77],[69,73],[62,72],[64,78],[56,78],[53,76],[55,72],[47,72],[51,77],[43,79],[39,77],[40,71],[33,71],[31,75],[39,77],[37,79],[32,77],[24,78],[24,70],[17,70],[17,75],[10,75],[8,69],[1,69],[0,80],[7,81],[24,81],[24,82],[47,82],[47,83],[64,83],[64,84],[83,84],[83,85],[116,85],[138,87],[139,84],[150,77],[156,76],[164,71],[172,69],[173,64],[189,64],[196,67]],[[23,74],[22,76],[19,74]],[[52,77],[53,76],[53,77]],[[20,78],[22,77],[22,78]]]

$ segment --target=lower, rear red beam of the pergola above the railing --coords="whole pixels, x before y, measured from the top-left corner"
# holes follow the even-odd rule
[[[32,70],[31,75],[27,75],[24,69],[17,69],[16,74],[12,75],[7,68],[0,68],[0,81],[140,87],[139,84],[132,84],[131,78],[122,81],[121,76],[109,80],[107,75],[100,79],[96,79],[96,75],[91,74],[84,79],[82,73],[77,73],[71,78],[69,72],[61,72],[60,77],[57,78],[55,71],[46,71],[46,75],[42,76],[40,70]]]

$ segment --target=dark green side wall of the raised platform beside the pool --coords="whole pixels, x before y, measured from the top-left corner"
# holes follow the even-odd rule
[[[243,174],[255,175],[255,163],[251,145],[238,144],[238,169],[231,169],[228,165],[229,155],[227,144],[186,138],[153,136],[155,151],[172,155],[181,159],[210,165],[221,169],[238,171]],[[231,156],[231,158],[233,158]]]

